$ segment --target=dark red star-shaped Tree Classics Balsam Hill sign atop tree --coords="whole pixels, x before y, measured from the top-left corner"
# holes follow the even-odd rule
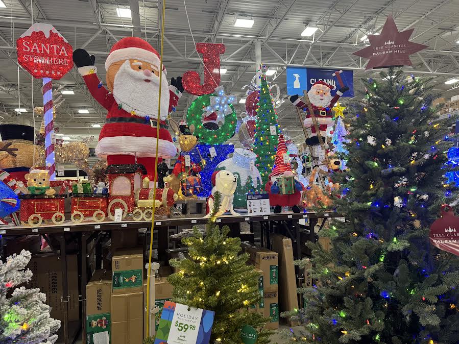
[[[370,59],[367,68],[382,68],[389,66],[413,66],[409,55],[427,47],[424,44],[409,42],[414,29],[399,32],[395,21],[388,17],[380,35],[368,35],[370,46],[353,53]]]

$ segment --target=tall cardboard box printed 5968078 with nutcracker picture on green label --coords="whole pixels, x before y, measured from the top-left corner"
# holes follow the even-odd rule
[[[110,340],[111,278],[111,271],[98,270],[86,285],[86,344]]]

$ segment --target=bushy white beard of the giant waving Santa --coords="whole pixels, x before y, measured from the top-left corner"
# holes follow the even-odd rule
[[[146,82],[144,80],[151,80]],[[159,118],[164,120],[169,110],[169,85],[165,75],[162,76],[161,112]],[[159,77],[147,77],[143,71],[131,68],[129,60],[121,65],[113,82],[113,95],[116,103],[122,104],[123,110],[135,111],[137,116],[158,116]]]

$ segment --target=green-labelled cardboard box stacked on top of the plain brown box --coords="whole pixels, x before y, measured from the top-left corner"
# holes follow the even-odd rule
[[[112,258],[112,293],[142,292],[143,255],[141,249],[116,250]]]

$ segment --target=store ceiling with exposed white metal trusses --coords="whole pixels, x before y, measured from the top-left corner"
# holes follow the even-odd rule
[[[16,39],[34,21],[53,24],[74,46],[85,47],[96,56],[96,66],[105,80],[104,62],[107,52],[116,40],[139,31],[159,50],[158,6],[153,0],[3,0],[0,8],[0,115],[4,123],[29,123],[32,120],[31,78],[16,64]],[[132,18],[118,17],[116,9],[128,9],[138,3],[139,11],[131,11]],[[414,28],[412,40],[428,45],[427,50],[412,56],[414,68],[405,70],[433,77],[436,90],[443,96],[458,94],[457,84],[445,81],[459,75],[459,0],[186,0],[192,35],[188,28],[183,0],[166,0],[164,64],[167,77],[181,76],[187,70],[202,72],[200,58],[194,50],[196,42],[218,42],[226,45],[222,66],[227,72],[221,84],[226,93],[243,96],[241,88],[249,84],[255,72],[255,41],[261,41],[262,61],[277,73],[274,80],[286,97],[284,67],[288,64],[354,69],[355,87],[361,88],[358,78],[368,77],[365,60],[352,56],[364,46],[360,40],[367,33],[380,32],[386,16],[393,15],[400,31]],[[253,19],[252,28],[237,28],[236,18]],[[133,27],[132,20],[140,20]],[[308,23],[319,30],[314,40],[300,36]],[[18,80],[19,74],[19,80]],[[18,107],[18,81],[20,108],[26,108],[16,117]],[[83,80],[75,69],[55,82],[74,95],[65,95],[64,105],[58,109],[56,126],[60,133],[80,140],[97,136],[105,110],[96,104],[87,92]],[[42,105],[41,80],[34,80],[35,106]],[[181,119],[192,96],[185,94],[179,102],[174,118]],[[89,114],[78,110],[88,109]],[[245,111],[238,104],[236,111]],[[288,135],[302,140],[302,130],[294,107],[288,100],[278,109],[280,125]],[[36,117],[38,128],[40,117]],[[236,140],[236,138],[233,138]]]

